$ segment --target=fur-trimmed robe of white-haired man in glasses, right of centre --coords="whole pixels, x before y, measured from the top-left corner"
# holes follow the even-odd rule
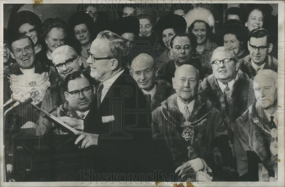
[[[226,111],[226,101],[223,92],[221,91],[217,79],[214,74],[209,75],[203,80],[200,94],[208,98],[215,108],[222,115],[225,126],[229,130],[229,139],[232,141],[231,123],[233,123],[247,108],[251,105],[251,101],[255,99],[252,89],[253,80],[249,79],[247,74],[240,69],[237,72],[237,80],[233,84],[229,96],[229,111]]]

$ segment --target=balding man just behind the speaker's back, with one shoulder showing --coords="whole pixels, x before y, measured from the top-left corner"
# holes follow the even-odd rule
[[[155,58],[145,52],[137,54],[131,64],[131,75],[143,91],[152,110],[161,105],[172,92],[170,83],[158,78]]]

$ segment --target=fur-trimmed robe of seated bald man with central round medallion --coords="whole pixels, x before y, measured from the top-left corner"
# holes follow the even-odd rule
[[[202,158],[213,170],[214,181],[215,177],[225,180],[235,175],[224,162],[228,158],[227,129],[211,102],[196,95],[189,120],[194,127],[183,126],[185,121],[174,95],[152,112],[152,134],[164,149],[161,149],[165,155],[162,159],[172,157],[177,168],[185,161]]]

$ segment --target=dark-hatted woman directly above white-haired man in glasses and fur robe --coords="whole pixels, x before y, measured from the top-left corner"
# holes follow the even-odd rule
[[[247,49],[244,49],[245,29],[238,20],[228,20],[225,22],[221,31],[223,46],[233,50],[237,59],[248,55]]]

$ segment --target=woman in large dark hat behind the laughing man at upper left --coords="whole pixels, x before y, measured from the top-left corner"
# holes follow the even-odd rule
[[[14,19],[10,21],[10,24],[13,25],[9,25],[11,35],[20,33],[29,36],[34,42],[35,59],[36,61],[42,62],[44,56],[42,41],[40,40],[42,21],[38,15],[30,11],[20,11],[12,18]]]

